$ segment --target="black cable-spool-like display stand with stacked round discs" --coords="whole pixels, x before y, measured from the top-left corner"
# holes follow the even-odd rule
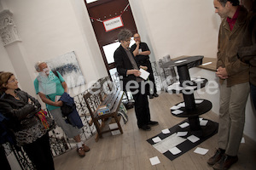
[[[183,111],[182,113],[177,114],[175,112],[176,110],[172,109],[171,113],[173,116],[177,117],[188,117],[189,120],[189,127],[183,129],[179,127],[177,130],[187,131],[188,133],[195,134],[196,136],[207,137],[212,135],[212,133],[216,133],[218,130],[218,124],[212,121],[208,121],[207,125],[201,126],[199,116],[207,113],[207,111],[210,111],[212,109],[212,103],[207,99],[195,99],[194,97],[194,91],[198,88],[204,88],[207,84],[207,79],[201,78],[200,81],[191,81],[189,76],[189,68],[201,65],[202,59],[203,56],[191,56],[183,59],[171,60],[166,64],[161,65],[161,67],[177,67],[180,82],[179,86],[182,89],[178,93],[183,93],[184,106],[180,107],[183,102],[175,105],[179,107],[179,111]]]

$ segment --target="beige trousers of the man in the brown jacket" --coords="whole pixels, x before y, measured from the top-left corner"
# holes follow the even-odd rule
[[[229,156],[237,156],[245,122],[245,106],[250,91],[249,82],[227,88],[220,85],[218,148]]]

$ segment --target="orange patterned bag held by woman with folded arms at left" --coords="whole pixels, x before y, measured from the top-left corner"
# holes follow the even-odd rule
[[[44,110],[40,110],[37,113],[38,118],[40,119],[41,123],[44,126],[44,129],[47,129],[48,131],[52,130],[55,128],[55,121],[47,116],[47,112]]]

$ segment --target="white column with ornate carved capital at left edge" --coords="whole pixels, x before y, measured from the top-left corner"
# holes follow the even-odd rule
[[[20,88],[35,97],[31,71],[29,71],[28,68],[30,67],[27,66],[28,62],[26,61],[26,50],[20,40],[15,21],[13,20],[13,14],[8,9],[0,12],[0,37],[14,66],[15,76],[18,79],[22,77],[22,79],[19,79]]]

